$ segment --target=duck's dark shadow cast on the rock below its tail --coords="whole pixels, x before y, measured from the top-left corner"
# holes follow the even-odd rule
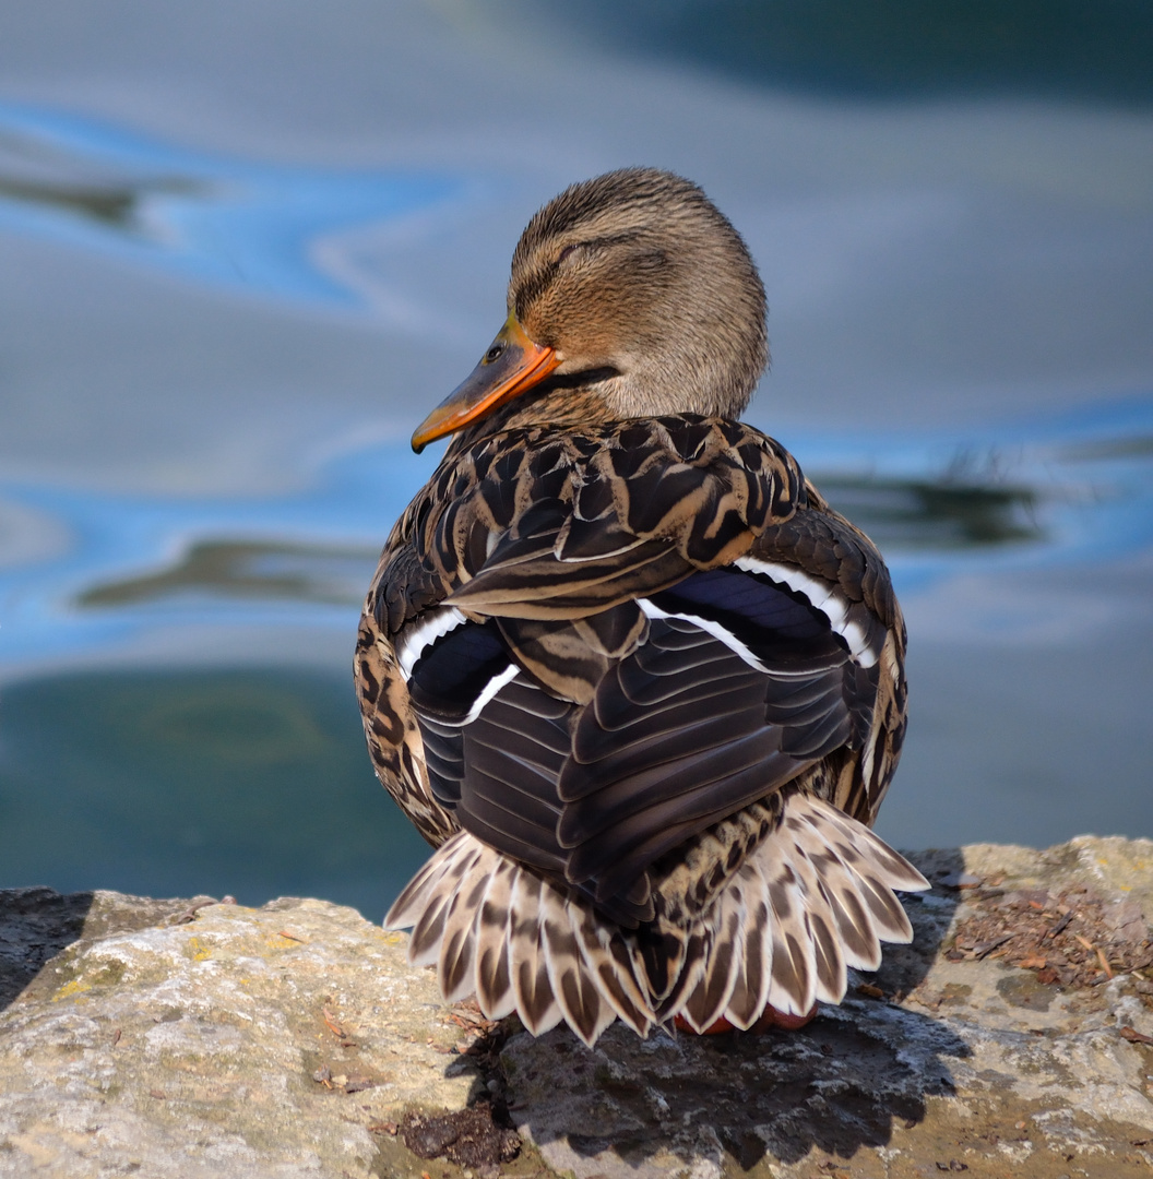
[[[907,897],[915,940],[888,947],[871,976],[850,974],[841,1007],[799,1032],[640,1040],[614,1025],[595,1048],[558,1028],[513,1035],[501,1053],[518,1129],[548,1162],[644,1179],[699,1162],[743,1168],[796,1161],[813,1147],[849,1157],[911,1127],[925,1099],[954,1092],[950,1059],[968,1047],[941,1021],[901,1006],[936,960],[963,870],[960,851],[916,862],[948,883]]]

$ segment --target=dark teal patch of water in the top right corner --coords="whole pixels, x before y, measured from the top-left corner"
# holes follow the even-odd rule
[[[505,0],[594,44],[803,93],[1153,101],[1153,12],[1139,0]],[[539,18],[538,18],[539,19]]]

